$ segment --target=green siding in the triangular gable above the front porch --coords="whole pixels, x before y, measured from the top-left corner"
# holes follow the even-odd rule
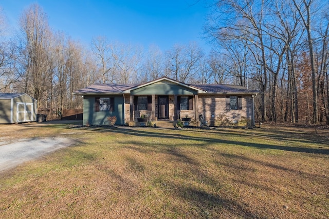
[[[183,87],[180,85],[169,85],[169,84],[151,84],[145,87],[132,90],[133,95],[193,95],[197,94],[196,90]]]

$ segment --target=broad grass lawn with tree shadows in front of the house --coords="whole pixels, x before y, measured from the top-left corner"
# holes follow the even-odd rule
[[[328,130],[263,127],[35,127],[76,145],[2,173],[0,218],[329,217]]]

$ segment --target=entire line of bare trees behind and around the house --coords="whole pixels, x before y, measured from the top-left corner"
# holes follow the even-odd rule
[[[212,51],[196,43],[161,51],[95,36],[83,46],[53,31],[39,5],[6,36],[0,11],[0,92],[25,92],[38,109],[82,108],[73,91],[94,83],[143,83],[168,76],[184,83],[236,84],[260,90],[259,121],[329,122],[328,3],[317,0],[218,1],[206,19]]]

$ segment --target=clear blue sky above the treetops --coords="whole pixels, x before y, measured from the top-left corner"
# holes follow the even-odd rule
[[[208,50],[202,39],[202,26],[208,9],[203,0],[3,0],[3,8],[12,27],[30,4],[39,4],[48,15],[54,31],[63,31],[82,44],[90,45],[102,35],[110,41],[155,44],[165,51],[174,44],[191,41]]]

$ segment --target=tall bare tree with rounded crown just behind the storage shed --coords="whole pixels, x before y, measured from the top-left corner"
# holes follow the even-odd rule
[[[50,28],[46,14],[39,5],[31,5],[20,17],[21,43],[23,45],[25,93],[34,96],[38,106],[47,103],[49,87]]]

